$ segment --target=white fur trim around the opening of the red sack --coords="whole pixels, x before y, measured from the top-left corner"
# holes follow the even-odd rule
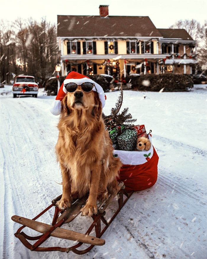
[[[148,151],[125,151],[125,150],[114,150],[114,155],[118,155],[120,160],[122,161],[123,165],[142,165],[146,162],[146,157],[144,155],[149,155],[149,158],[153,156],[153,145],[151,136],[148,135],[148,138],[151,142],[151,148]]]

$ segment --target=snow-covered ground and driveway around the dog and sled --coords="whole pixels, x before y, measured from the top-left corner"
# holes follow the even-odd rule
[[[62,186],[54,153],[58,117],[49,112],[54,96],[40,89],[38,98],[13,99],[11,89],[0,89],[0,258],[207,258],[206,85],[190,92],[124,91],[123,108],[152,130],[159,176],[152,188],[132,194],[102,236],[106,244],[85,255],[31,252],[14,237],[20,225],[11,216],[33,218]],[[118,95],[106,93],[105,114]],[[42,221],[51,217],[48,212]],[[78,217],[69,226],[81,231],[89,221]],[[46,244],[70,243],[50,237]]]

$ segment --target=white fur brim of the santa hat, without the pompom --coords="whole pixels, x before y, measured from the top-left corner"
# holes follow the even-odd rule
[[[64,93],[67,93],[67,90],[65,88],[65,85],[67,83],[76,83],[76,84],[80,83],[81,84],[81,83],[84,83],[84,82],[90,82],[90,83],[95,84],[96,88],[93,86],[92,90],[96,92],[96,89],[97,89],[98,96],[99,96],[99,99],[100,99],[101,104],[102,104],[102,108],[104,108],[104,105],[105,105],[105,102],[106,102],[104,90],[98,83],[96,83],[95,81],[93,81],[90,78],[84,77],[84,78],[76,78],[76,79],[73,79],[73,78],[65,79],[64,82],[63,82],[64,83],[63,91],[64,91]]]

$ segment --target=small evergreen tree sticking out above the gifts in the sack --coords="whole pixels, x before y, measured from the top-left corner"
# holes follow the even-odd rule
[[[102,118],[104,119],[104,122],[107,124],[109,120],[113,120],[115,125],[121,125],[125,124],[126,128],[132,128],[134,127],[134,122],[137,121],[136,119],[132,119],[132,115],[128,113],[129,108],[124,108],[124,110],[120,113],[120,109],[123,102],[123,90],[122,85],[120,89],[120,95],[118,97],[118,100],[115,104],[115,108],[111,109],[111,114],[106,116],[104,113],[102,113]]]

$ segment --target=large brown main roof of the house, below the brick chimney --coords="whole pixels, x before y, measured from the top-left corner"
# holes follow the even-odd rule
[[[58,37],[161,37],[148,16],[57,16]]]

